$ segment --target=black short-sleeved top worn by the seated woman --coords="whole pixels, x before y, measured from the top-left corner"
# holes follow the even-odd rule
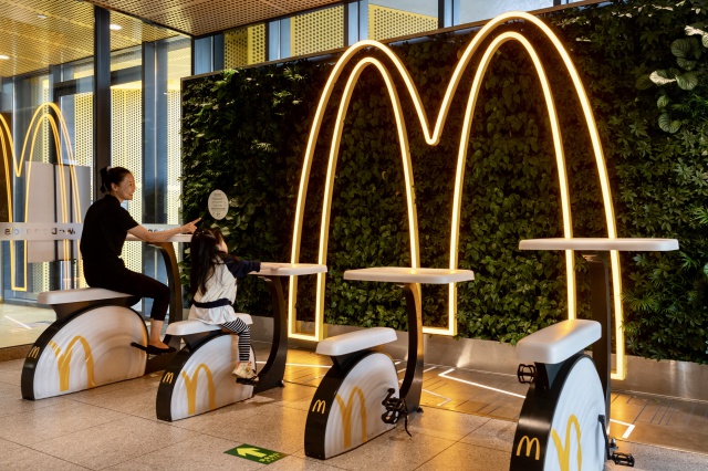
[[[121,260],[123,243],[128,229],[136,226],[135,219],[112,195],[91,205],[84,218],[80,245],[87,281],[102,272],[125,268]]]

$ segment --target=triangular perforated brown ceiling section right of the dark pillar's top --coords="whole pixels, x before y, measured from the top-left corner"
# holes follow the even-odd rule
[[[340,0],[90,0],[199,36],[339,3]]]

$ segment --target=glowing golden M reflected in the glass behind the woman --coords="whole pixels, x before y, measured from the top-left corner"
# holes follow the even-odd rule
[[[50,112],[53,112],[50,113]],[[55,116],[54,116],[55,115]],[[22,143],[22,150],[19,155],[19,158],[14,151],[14,143],[12,140],[12,133],[10,132],[10,126],[8,122],[4,119],[2,115],[0,115],[0,150],[2,151],[2,163],[4,169],[4,179],[6,179],[6,190],[7,190],[7,201],[8,201],[8,217],[9,222],[21,222],[14,221],[13,217],[13,208],[12,203],[12,191],[11,191],[11,181],[12,175],[14,177],[20,178],[22,176],[22,165],[27,160],[28,163],[34,155],[34,146],[37,144],[38,134],[42,127],[42,123],[49,123],[49,126],[52,132],[53,143],[55,148],[58,149],[58,154],[60,158],[58,158],[58,164],[61,170],[60,175],[64,175],[63,167],[64,163],[61,158],[61,149],[62,143],[63,147],[66,150],[66,156],[69,161],[74,161],[74,151],[71,146],[71,136],[69,134],[69,127],[66,126],[66,121],[62,115],[61,109],[54,103],[46,102],[41,104],[34,111],[32,115],[32,119],[28,126],[28,132],[24,135],[24,142]],[[28,153],[28,144],[30,146]],[[73,164],[67,164],[69,166],[69,175],[71,179],[71,187],[73,190],[73,200],[76,201],[75,210],[74,210],[74,222],[81,222],[81,200],[79,198],[79,180],[76,178],[76,170]],[[12,172],[10,171],[12,168]],[[24,205],[24,216],[23,218],[27,220],[29,216],[29,191],[31,189],[31,169],[32,166],[28,166],[27,172],[27,184],[25,184],[25,205]],[[59,179],[59,190],[60,190],[60,221],[58,222],[71,222],[71,214],[69,209],[69,190],[66,189],[66,185],[63,178]],[[27,291],[27,241],[23,241],[24,247],[24,260],[23,260],[23,285],[19,285],[17,282],[15,271],[17,271],[17,260],[15,260],[15,251],[14,251],[14,241],[10,241],[10,264],[11,264],[11,283],[12,290],[14,291]],[[64,240],[64,258],[69,257],[69,240]]]

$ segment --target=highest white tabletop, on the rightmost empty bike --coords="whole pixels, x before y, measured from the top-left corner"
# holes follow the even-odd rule
[[[618,250],[641,252],[666,252],[678,250],[676,239],[642,238],[573,238],[573,239],[528,239],[519,242],[520,250]]]

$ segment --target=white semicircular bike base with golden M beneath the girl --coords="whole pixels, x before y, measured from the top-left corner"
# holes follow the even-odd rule
[[[186,346],[169,363],[157,389],[157,418],[174,421],[209,412],[253,396],[253,386],[237,384],[238,336],[211,331],[183,337]],[[256,365],[251,348],[250,362]]]

